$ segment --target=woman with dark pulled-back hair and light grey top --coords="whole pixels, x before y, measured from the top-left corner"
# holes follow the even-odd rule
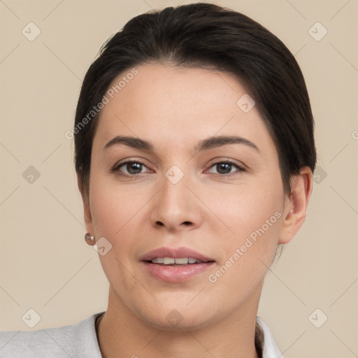
[[[282,357],[257,308],[306,216],[313,126],[296,60],[257,22],[209,3],[134,17],[69,133],[108,308],[3,332],[1,357]]]

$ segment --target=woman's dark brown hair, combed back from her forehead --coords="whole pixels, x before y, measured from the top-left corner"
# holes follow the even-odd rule
[[[92,141],[101,113],[93,108],[103,100],[113,79],[148,62],[215,69],[235,76],[255,100],[273,138],[285,194],[290,192],[291,176],[303,166],[314,171],[313,115],[292,53],[250,17],[212,3],[192,3],[134,17],[102,46],[88,69],[73,130],[76,172],[86,193]]]

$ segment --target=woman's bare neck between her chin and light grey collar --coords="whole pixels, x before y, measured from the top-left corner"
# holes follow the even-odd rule
[[[110,287],[108,308],[99,324],[103,358],[259,358],[255,349],[258,291],[222,320],[203,327],[153,327],[118,301]]]

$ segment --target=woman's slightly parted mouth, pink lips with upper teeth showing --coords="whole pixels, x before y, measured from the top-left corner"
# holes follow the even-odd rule
[[[208,270],[215,264],[189,248],[159,248],[141,257],[146,271],[158,280],[184,282]]]

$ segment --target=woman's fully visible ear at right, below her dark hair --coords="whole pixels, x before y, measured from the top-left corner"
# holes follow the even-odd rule
[[[308,166],[291,178],[291,193],[285,201],[284,219],[278,236],[278,245],[289,243],[306,218],[306,210],[312,192],[312,171]]]

